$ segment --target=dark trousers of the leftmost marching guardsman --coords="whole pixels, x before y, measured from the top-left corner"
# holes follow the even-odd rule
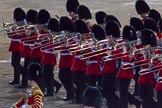
[[[12,52],[11,56],[11,65],[14,68],[14,81],[20,82],[20,73],[23,72],[23,66],[20,64],[21,61],[21,53],[20,52]]]

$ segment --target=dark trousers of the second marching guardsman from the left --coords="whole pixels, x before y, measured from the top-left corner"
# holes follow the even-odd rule
[[[29,71],[28,66],[31,62],[31,59],[25,58],[24,59],[24,71],[22,73],[22,85],[27,86],[28,85],[28,79],[29,79]]]

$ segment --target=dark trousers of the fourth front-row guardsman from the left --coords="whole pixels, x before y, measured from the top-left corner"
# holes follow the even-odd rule
[[[47,94],[53,94],[54,92],[54,66],[53,65],[43,65],[43,74],[45,86],[47,87]]]

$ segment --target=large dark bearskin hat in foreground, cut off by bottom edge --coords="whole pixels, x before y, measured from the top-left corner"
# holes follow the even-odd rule
[[[83,105],[101,108],[102,93],[97,87],[87,87],[83,92]]]

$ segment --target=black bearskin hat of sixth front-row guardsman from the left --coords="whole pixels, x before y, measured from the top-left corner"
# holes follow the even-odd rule
[[[75,32],[79,33],[89,33],[89,28],[87,24],[82,20],[76,20],[74,23]]]

